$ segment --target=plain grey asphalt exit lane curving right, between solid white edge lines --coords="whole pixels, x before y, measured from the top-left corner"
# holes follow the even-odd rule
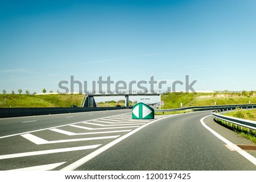
[[[200,119],[210,113],[180,114],[154,122],[76,170],[255,170],[253,163],[230,151],[201,125]]]

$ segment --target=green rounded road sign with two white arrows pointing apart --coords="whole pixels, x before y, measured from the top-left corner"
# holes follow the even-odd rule
[[[154,119],[155,111],[150,106],[147,106],[142,102],[139,102],[138,104],[133,106],[132,118],[133,119]]]

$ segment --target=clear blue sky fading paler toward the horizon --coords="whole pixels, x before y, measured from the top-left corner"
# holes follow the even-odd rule
[[[195,90],[256,90],[254,0],[1,0],[0,27],[1,92],[185,75]]]

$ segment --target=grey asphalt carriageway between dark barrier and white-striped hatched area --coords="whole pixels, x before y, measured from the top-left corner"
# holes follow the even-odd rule
[[[41,130],[49,127],[68,125],[90,119],[108,117],[110,115],[130,113],[130,109],[110,111],[90,111],[83,113],[67,113],[52,115],[37,115],[29,117],[0,118],[0,138],[7,135]]]

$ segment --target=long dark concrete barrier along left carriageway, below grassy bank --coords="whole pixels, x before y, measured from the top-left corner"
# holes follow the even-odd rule
[[[88,111],[117,110],[124,107],[17,107],[0,108],[0,118],[22,117],[30,115],[80,113]]]

